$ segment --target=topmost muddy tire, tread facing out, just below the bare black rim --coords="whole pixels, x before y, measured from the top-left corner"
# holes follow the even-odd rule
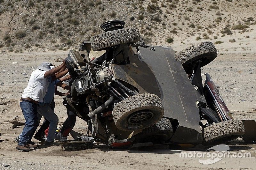
[[[108,47],[128,43],[132,44],[140,40],[137,28],[123,28],[106,33],[101,33],[91,37],[93,51],[104,50]]]

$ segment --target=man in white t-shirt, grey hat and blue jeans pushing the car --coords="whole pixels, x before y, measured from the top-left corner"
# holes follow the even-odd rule
[[[50,63],[43,62],[31,73],[28,85],[20,99],[20,108],[26,122],[16,149],[28,152],[29,148],[36,147],[35,144],[31,144],[30,140],[37,128],[37,104],[38,102],[43,102],[44,95],[51,81],[67,74],[66,68],[65,60],[53,69],[51,69]]]

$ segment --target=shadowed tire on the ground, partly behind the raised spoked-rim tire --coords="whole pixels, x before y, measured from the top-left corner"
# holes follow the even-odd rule
[[[153,142],[164,143],[168,139],[170,139],[173,135],[173,129],[171,121],[167,118],[161,118],[154,125],[149,126],[146,129],[143,129],[139,134],[134,136],[135,142],[143,143],[143,142]]]

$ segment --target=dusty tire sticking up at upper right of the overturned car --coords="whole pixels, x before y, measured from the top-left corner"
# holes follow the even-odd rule
[[[211,63],[217,57],[217,49],[210,41],[204,41],[198,44],[183,49],[175,58],[180,61],[185,71],[188,72],[191,69],[192,63],[200,60],[201,67]]]

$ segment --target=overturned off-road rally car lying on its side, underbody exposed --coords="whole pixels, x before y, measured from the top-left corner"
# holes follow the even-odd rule
[[[212,145],[244,135],[209,74],[202,83],[201,67],[217,56],[212,42],[175,55],[170,47],[145,45],[123,21],[101,28],[66,59],[72,97],[65,106],[87,122],[95,140],[113,147]],[[106,52],[91,60],[91,49]]]

